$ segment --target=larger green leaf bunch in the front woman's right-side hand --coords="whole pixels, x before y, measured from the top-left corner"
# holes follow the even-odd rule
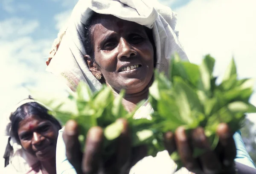
[[[219,123],[229,125],[233,132],[241,128],[245,113],[256,112],[249,103],[253,93],[253,79],[238,79],[234,59],[230,62],[220,84],[213,76],[215,59],[206,55],[200,65],[181,61],[175,55],[169,65],[169,77],[155,72],[149,99],[154,109],[157,131],[175,131],[184,126],[190,130],[203,127],[212,145],[218,144],[216,129]],[[203,153],[194,149],[194,156]],[[172,159],[180,168],[175,151]]]

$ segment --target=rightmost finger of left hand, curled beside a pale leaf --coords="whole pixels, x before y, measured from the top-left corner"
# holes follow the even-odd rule
[[[125,119],[118,119],[117,122],[123,124],[123,130],[118,138],[117,145],[117,164],[120,169],[119,173],[123,173],[127,169],[131,159],[131,134],[128,128],[128,122]]]

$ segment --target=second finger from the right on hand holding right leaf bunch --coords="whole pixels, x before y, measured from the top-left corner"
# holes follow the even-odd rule
[[[214,174],[221,170],[221,162],[218,157],[211,151],[207,137],[204,134],[204,129],[199,127],[191,133],[192,143],[195,148],[203,150],[203,154],[199,157],[201,167],[205,174]]]

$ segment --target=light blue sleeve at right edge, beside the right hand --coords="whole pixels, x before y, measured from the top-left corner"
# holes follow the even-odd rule
[[[250,166],[252,168],[255,168],[255,165],[253,163],[253,160],[251,159],[250,155],[247,153],[245,149],[244,142],[241,137],[241,131],[237,131],[234,135],[233,138],[236,143],[236,162],[239,162],[241,164]]]

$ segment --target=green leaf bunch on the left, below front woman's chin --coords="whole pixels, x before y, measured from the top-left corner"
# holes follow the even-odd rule
[[[124,118],[128,121],[131,130],[133,147],[148,144],[148,154],[157,154],[159,148],[154,132],[150,129],[152,120],[133,119],[134,113],[145,102],[138,104],[134,112],[128,113],[122,105],[125,91],[122,90],[118,97],[114,97],[112,89],[103,86],[101,90],[92,93],[84,82],[80,82],[75,93],[66,96],[54,96],[50,93],[43,95],[34,93],[34,98],[50,108],[50,114],[58,119],[62,125],[70,119],[79,125],[79,142],[84,150],[87,132],[91,127],[100,126],[104,131],[103,159],[107,161],[116,148],[116,139],[120,136],[123,125],[117,119]],[[154,140],[154,141],[153,141]],[[151,148],[150,148],[151,147]],[[162,149],[164,150],[164,149]]]

